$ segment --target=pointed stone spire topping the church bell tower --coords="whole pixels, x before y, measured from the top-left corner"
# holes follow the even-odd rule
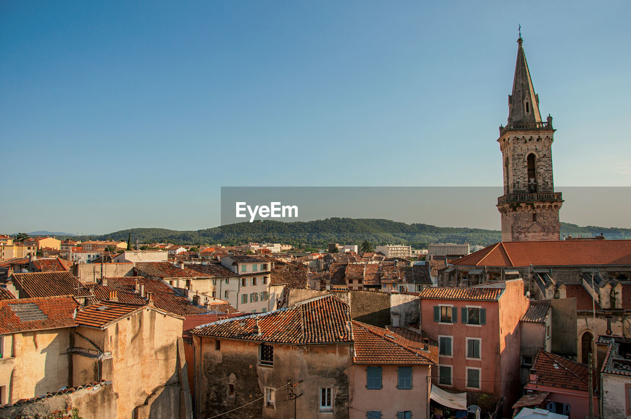
[[[520,27],[521,29],[521,27]],[[534,93],[528,62],[522,43],[521,30],[517,39],[517,62],[513,79],[512,95],[509,95],[509,126],[511,122],[541,122],[539,97]]]

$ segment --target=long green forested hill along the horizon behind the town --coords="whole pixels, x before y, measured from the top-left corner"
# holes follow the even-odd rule
[[[604,234],[607,239],[631,239],[630,228],[579,227],[561,223],[563,236],[592,237]],[[127,240],[129,230],[98,236],[75,236],[73,240]],[[501,240],[497,230],[466,227],[436,227],[422,223],[399,223],[375,218],[327,218],[317,221],[254,221],[236,223],[223,227],[196,231],[177,231],[165,228],[132,228],[132,242],[168,242],[174,244],[234,245],[247,242],[274,242],[285,244],[307,244],[323,247],[327,243],[361,244],[411,244],[416,248],[428,243],[464,243],[489,245]]]

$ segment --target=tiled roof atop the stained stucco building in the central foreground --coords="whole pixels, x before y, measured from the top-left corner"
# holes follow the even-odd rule
[[[259,333],[253,331],[258,322]],[[350,309],[331,295],[288,309],[200,326],[192,334],[270,343],[350,343]]]

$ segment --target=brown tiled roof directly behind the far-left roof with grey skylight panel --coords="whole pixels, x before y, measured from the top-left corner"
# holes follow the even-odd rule
[[[14,273],[13,281],[19,285],[21,292],[32,298],[59,295],[87,297],[91,295],[90,290],[81,284],[79,278],[68,271]]]

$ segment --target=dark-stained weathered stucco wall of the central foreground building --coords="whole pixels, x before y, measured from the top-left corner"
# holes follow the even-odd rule
[[[200,343],[201,342],[201,343]],[[220,339],[194,338],[196,346],[195,408],[199,417],[229,411],[251,401],[244,408],[228,413],[225,418],[348,418],[348,371],[350,345],[274,345],[274,365],[259,365],[259,343]],[[201,346],[201,351],[199,350]],[[201,353],[201,357],[200,354]],[[287,379],[293,378],[294,394],[288,399]],[[301,382],[302,381],[302,382]],[[230,396],[230,385],[234,393]],[[275,392],[273,407],[265,406],[265,388]],[[319,412],[319,391],[333,387],[333,413]],[[296,414],[294,415],[294,410]]]

